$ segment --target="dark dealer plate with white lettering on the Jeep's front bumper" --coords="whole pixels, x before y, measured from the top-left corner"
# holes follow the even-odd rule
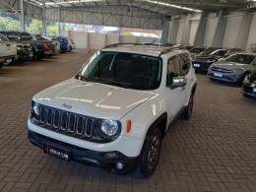
[[[47,143],[43,143],[42,146],[43,146],[42,147],[43,153],[45,153],[49,156],[53,156],[55,158],[62,159],[62,160],[70,160],[70,158],[71,158],[70,150],[60,148],[57,146],[53,146],[53,145],[47,144]]]

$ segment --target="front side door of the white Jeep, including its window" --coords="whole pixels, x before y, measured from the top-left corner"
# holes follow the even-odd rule
[[[179,113],[182,103],[183,103],[183,88],[172,89],[172,80],[174,77],[179,77],[182,74],[181,69],[181,57],[180,55],[175,55],[170,57],[167,62],[166,69],[166,106],[168,113],[168,123]]]

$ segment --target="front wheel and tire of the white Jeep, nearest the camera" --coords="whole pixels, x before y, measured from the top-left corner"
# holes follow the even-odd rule
[[[141,162],[137,169],[140,176],[147,178],[155,172],[160,159],[161,140],[162,135],[157,127],[150,130],[147,134]]]

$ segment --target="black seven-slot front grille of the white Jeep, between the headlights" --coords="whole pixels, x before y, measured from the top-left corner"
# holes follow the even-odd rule
[[[96,135],[100,119],[41,104],[38,107],[39,115],[34,118],[40,127],[85,140]]]

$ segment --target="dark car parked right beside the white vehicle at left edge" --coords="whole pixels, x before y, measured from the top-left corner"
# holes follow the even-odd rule
[[[8,37],[10,41],[16,42],[17,59],[20,62],[32,60],[32,45],[21,37],[17,32],[0,32]]]

